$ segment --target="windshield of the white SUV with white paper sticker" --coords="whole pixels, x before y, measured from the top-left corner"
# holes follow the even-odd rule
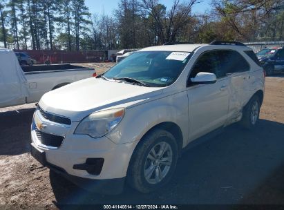
[[[104,73],[106,79],[131,78],[147,86],[169,86],[178,79],[190,53],[149,51],[133,53]]]

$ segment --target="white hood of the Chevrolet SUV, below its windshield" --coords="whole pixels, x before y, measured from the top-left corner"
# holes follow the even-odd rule
[[[44,111],[79,121],[104,108],[129,107],[162,93],[151,88],[88,78],[46,93],[39,102]]]

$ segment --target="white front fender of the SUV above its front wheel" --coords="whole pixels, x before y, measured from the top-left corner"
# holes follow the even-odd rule
[[[153,126],[173,122],[180,127],[184,141],[189,137],[187,92],[176,93],[138,106],[126,108],[122,122],[107,135],[116,144],[139,141]]]

